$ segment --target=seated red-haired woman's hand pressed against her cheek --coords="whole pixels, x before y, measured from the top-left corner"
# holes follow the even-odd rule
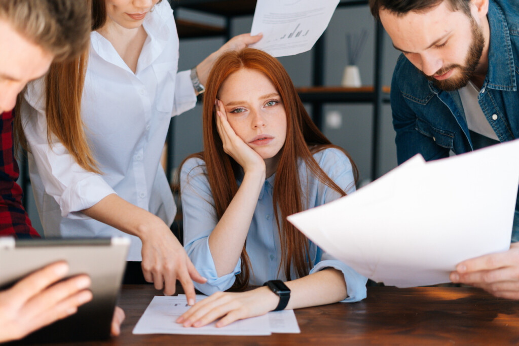
[[[234,132],[227,121],[223,102],[216,100],[216,128],[222,139],[224,151],[243,168],[243,172],[262,171],[265,173],[265,161],[247,143]]]

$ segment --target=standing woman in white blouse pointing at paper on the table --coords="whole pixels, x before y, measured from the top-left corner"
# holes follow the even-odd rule
[[[169,228],[176,207],[161,149],[171,117],[195,106],[217,57],[261,37],[236,36],[191,72],[177,72],[179,39],[167,1],[92,5],[89,52],[33,82],[21,107],[44,235],[131,237],[128,260],[137,266],[127,273],[139,276],[142,260],[146,281],[173,294],[179,280],[192,304],[192,280],[206,279]],[[127,283],[140,281],[130,276]]]

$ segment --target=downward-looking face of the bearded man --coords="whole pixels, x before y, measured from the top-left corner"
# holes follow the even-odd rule
[[[383,9],[380,21],[395,48],[442,90],[466,86],[480,63],[485,41],[478,19],[445,1],[404,16]]]

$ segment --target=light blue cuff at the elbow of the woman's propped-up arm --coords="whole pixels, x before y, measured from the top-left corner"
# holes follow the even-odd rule
[[[200,275],[207,279],[207,282],[204,284],[195,282],[194,284],[196,289],[209,296],[215,292],[224,291],[233,286],[236,280],[236,275],[241,272],[241,259],[238,259],[238,263],[233,272],[218,277],[213,256],[209,249],[209,237],[195,241],[190,247],[190,250],[189,248],[186,249],[189,258],[195,264],[195,268],[198,270]]]

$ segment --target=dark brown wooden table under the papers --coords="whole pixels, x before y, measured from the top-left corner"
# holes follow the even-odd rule
[[[152,285],[125,285],[126,312],[113,345],[502,345],[519,343],[519,301],[498,299],[467,287],[368,287],[367,299],[296,310],[301,334],[271,336],[132,335],[158,292]],[[87,344],[87,343],[83,343]]]

